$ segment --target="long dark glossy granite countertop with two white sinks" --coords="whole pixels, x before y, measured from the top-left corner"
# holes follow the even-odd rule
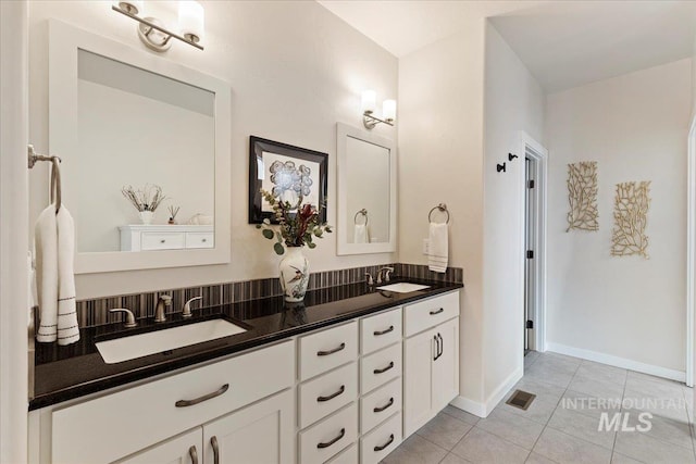
[[[393,280],[397,281],[397,280]],[[124,329],[110,324],[80,329],[79,341],[66,347],[36,343],[34,398],[29,410],[105,390],[181,367],[213,360],[284,338],[326,327],[422,298],[462,288],[462,284],[409,279],[430,288],[409,293],[375,290],[364,283],[309,291],[304,302],[290,305],[283,297],[273,297],[195,311],[183,319],[181,314],[154,324],[139,321],[138,327]],[[211,318],[226,318],[248,330],[216,340],[197,343],[115,364],[107,364],[95,342],[156,329],[191,324]]]

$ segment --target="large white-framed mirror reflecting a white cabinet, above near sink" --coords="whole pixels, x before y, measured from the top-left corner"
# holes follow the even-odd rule
[[[49,150],[75,272],[229,262],[229,86],[53,20],[49,40]],[[140,214],[124,188],[165,198]]]

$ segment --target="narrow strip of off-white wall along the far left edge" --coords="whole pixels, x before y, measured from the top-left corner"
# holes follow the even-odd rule
[[[0,2],[0,462],[27,462],[27,4]]]

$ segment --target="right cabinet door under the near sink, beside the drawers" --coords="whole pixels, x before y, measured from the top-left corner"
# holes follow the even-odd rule
[[[203,426],[206,464],[295,462],[295,399],[278,393]]]

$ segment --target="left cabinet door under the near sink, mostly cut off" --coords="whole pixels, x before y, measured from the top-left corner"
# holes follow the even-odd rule
[[[141,451],[119,464],[199,464],[203,462],[203,431],[200,427]]]

